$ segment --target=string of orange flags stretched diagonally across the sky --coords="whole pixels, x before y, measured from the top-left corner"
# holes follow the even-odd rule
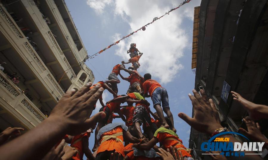
[[[177,10],[177,9],[180,8],[183,4],[189,3],[190,1],[191,1],[191,0],[185,0],[185,1],[183,1],[178,7],[176,7],[176,8],[172,8],[171,10],[169,10],[168,12],[166,12],[164,15],[162,15],[162,16],[159,17],[159,18],[158,18],[158,17],[155,17],[155,18],[153,19],[152,22],[147,23],[146,25],[144,25],[143,27],[141,27],[141,28],[137,29],[136,31],[130,33],[129,35],[122,37],[120,40],[114,42],[113,44],[110,44],[110,45],[107,46],[106,48],[104,48],[104,49],[100,50],[99,52],[95,53],[94,55],[88,56],[87,59],[89,59],[89,58],[90,58],[90,59],[94,58],[94,56],[97,56],[98,54],[102,53],[102,52],[105,51],[106,49],[109,49],[111,46],[114,46],[114,45],[118,44],[121,40],[123,40],[123,39],[125,39],[125,38],[127,38],[127,37],[129,37],[129,36],[131,36],[131,35],[133,35],[134,33],[137,33],[137,32],[140,31],[140,30],[145,31],[145,29],[146,29],[147,26],[149,26],[150,24],[152,24],[152,23],[155,22],[156,20],[162,18],[163,16],[165,16],[165,15],[169,15],[170,12],[172,12],[172,11],[174,11],[174,10]],[[85,59],[85,60],[86,60],[86,59]]]

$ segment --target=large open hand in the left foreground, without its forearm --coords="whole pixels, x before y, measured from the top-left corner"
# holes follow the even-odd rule
[[[61,125],[67,129],[67,134],[80,134],[94,127],[99,118],[105,116],[104,112],[99,112],[89,119],[96,101],[103,92],[99,84],[89,90],[91,85],[91,82],[87,83],[77,92],[74,89],[67,91],[49,116],[50,119],[62,122]]]

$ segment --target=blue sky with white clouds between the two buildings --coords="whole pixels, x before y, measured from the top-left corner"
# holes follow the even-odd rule
[[[179,6],[183,0],[65,0],[71,16],[82,38],[88,55],[113,44],[121,37],[130,34],[154,17],[160,17],[170,9]],[[138,72],[141,75],[150,73],[167,89],[169,106],[174,117],[174,126],[188,147],[190,126],[177,115],[184,112],[191,116],[192,105],[188,93],[194,89],[195,74],[191,71],[192,33],[194,7],[200,6],[201,0],[192,0],[169,15],[150,24],[145,31],[138,31],[120,41],[119,44],[86,61],[93,71],[94,83],[107,80],[113,66],[128,61],[127,50],[131,43],[136,43],[143,52]],[[126,67],[129,67],[126,64]],[[121,71],[124,77],[129,74]],[[120,77],[119,77],[120,78]],[[121,80],[119,93],[126,94],[129,82]],[[103,93],[104,103],[113,98],[107,90]],[[147,98],[152,105],[152,100]],[[99,102],[93,111],[96,114],[101,108]],[[155,109],[150,107],[153,112]],[[115,119],[113,122],[123,122]],[[94,133],[89,139],[89,148],[94,145]],[[84,157],[85,158],[85,157]]]

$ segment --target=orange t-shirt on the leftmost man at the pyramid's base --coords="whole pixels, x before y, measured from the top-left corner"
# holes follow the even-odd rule
[[[72,159],[74,160],[80,160],[83,159],[83,146],[82,146],[82,138],[86,136],[87,138],[89,138],[90,134],[88,132],[84,133],[84,134],[80,134],[80,135],[76,135],[73,137],[72,142],[71,142],[71,147],[74,147],[79,153],[77,153],[75,156],[72,157]],[[73,144],[77,139],[80,139],[79,142],[76,142],[75,144]],[[80,157],[81,155],[81,157]]]

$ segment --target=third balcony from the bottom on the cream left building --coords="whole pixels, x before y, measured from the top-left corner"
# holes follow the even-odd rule
[[[57,80],[61,88],[68,89],[76,74],[66,60],[37,5],[32,1],[21,1],[6,8],[41,60],[46,64],[52,73],[51,75]]]

